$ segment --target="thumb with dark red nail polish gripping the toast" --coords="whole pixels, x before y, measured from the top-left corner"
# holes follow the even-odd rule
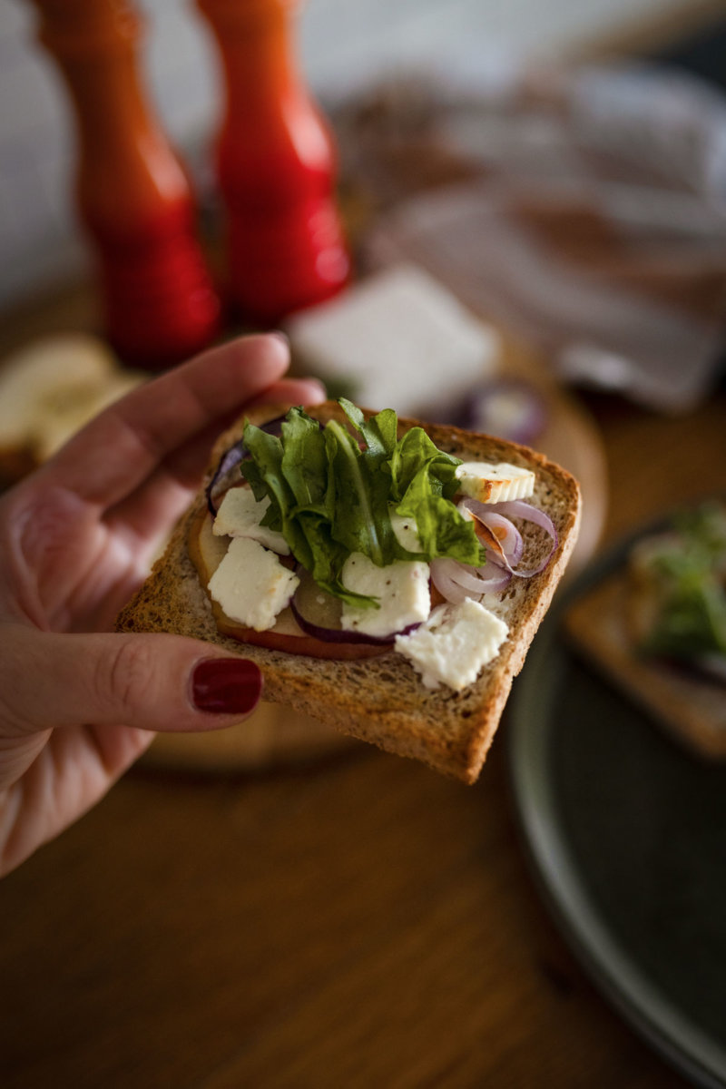
[[[245,719],[262,692],[254,662],[182,636],[15,627],[7,643],[0,720],[16,735],[79,723],[211,730]]]

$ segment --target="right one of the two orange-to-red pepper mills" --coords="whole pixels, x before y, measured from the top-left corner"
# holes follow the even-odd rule
[[[296,70],[297,0],[197,0],[221,52],[226,109],[217,171],[232,302],[272,325],[346,283],[333,143]]]

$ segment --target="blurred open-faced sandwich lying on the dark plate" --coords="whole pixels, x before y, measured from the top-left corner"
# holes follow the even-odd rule
[[[726,758],[726,504],[640,537],[578,598],[575,647],[698,755]]]

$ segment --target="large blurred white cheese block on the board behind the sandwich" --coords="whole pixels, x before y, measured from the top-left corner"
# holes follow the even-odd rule
[[[416,265],[373,273],[285,326],[293,352],[369,408],[455,405],[499,366],[500,338]]]

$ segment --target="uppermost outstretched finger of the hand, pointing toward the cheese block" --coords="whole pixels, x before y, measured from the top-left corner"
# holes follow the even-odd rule
[[[205,352],[111,405],[40,472],[107,510],[179,446],[273,387],[288,364],[287,345],[275,335]]]

